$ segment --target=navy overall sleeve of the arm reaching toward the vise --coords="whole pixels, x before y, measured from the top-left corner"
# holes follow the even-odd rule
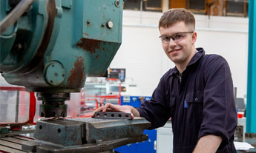
[[[151,127],[155,129],[164,126],[171,116],[171,109],[168,105],[170,97],[168,96],[168,86],[166,86],[165,75],[160,79],[160,83],[154,90],[150,101],[145,101],[137,108],[140,112],[140,117],[151,122]]]

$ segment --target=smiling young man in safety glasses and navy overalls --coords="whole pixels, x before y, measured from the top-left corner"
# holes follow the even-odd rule
[[[237,112],[226,60],[195,48],[195,19],[188,10],[168,10],[159,29],[163,50],[176,67],[163,75],[151,100],[137,109],[107,103],[96,111],[131,112],[132,118],[150,121],[151,129],[171,118],[174,153],[236,152]]]

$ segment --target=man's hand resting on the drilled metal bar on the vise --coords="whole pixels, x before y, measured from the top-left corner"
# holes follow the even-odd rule
[[[134,107],[127,105],[119,106],[112,103],[106,103],[105,106],[101,106],[96,109],[91,115],[92,118],[94,118],[95,112],[126,112],[131,113],[131,119],[134,119],[134,117],[140,117],[140,112],[138,112]]]

